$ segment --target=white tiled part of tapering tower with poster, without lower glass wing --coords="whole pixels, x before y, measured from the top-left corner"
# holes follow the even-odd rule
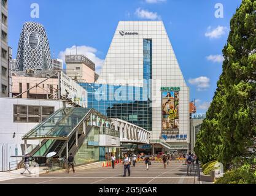
[[[120,21],[97,83],[145,87],[145,80],[152,80],[151,141],[155,149],[187,150],[189,89],[163,22]],[[167,102],[173,108],[165,109]],[[165,112],[172,110],[175,115],[163,115],[162,104]]]

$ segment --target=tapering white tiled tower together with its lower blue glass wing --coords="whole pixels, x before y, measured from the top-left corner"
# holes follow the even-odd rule
[[[154,153],[188,150],[189,89],[162,21],[120,21],[97,83],[107,84],[107,91],[93,86],[88,105],[103,99],[99,108],[107,115],[152,130]]]

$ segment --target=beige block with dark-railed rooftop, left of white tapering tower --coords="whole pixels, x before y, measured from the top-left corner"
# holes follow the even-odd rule
[[[73,80],[94,83],[95,63],[84,55],[66,55],[66,73]]]

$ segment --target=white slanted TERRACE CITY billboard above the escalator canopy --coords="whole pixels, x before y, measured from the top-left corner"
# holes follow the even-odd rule
[[[60,89],[62,97],[72,100],[80,107],[87,107],[87,91],[63,72],[61,72]]]

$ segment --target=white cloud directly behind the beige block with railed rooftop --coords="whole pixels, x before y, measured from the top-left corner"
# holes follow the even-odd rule
[[[97,49],[93,47],[88,47],[86,45],[78,46],[75,45],[71,48],[66,48],[64,51],[60,51],[58,58],[65,62],[65,55],[85,55],[88,59],[95,63],[96,71],[98,72],[104,64],[104,59],[98,58],[96,56]]]

